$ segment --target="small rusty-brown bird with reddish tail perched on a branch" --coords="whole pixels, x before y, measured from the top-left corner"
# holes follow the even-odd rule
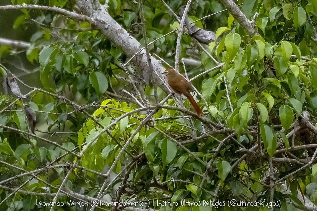
[[[201,109],[199,108],[197,102],[194,100],[194,98],[191,96],[191,91],[193,91],[193,88],[191,87],[191,83],[189,83],[182,75],[178,74],[173,69],[166,69],[164,71],[167,83],[170,85],[170,87],[178,94],[184,94],[189,102],[191,102],[191,105],[196,110],[196,113],[198,117],[203,114]]]

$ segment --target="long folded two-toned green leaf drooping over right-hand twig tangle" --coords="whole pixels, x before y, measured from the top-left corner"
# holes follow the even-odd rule
[[[264,149],[266,149],[269,156],[272,157],[276,149],[276,139],[273,136],[272,129],[268,127],[268,125],[262,124],[260,134],[264,143]]]

